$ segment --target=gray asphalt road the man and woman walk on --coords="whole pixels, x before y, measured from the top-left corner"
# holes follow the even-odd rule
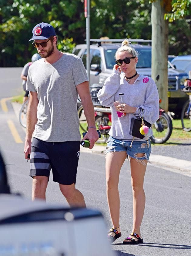
[[[6,91],[4,87],[3,96],[5,97],[13,96],[15,91],[21,90],[20,85],[17,88],[16,85],[15,88],[6,87],[9,91]],[[2,99],[2,94],[0,98]],[[22,196],[30,200],[32,179],[28,176],[29,163],[26,163],[23,153],[25,131],[20,126],[9,101],[7,101],[7,107],[8,112],[6,113],[0,107],[0,149],[5,158],[11,191],[21,193]],[[20,142],[15,142],[15,137],[8,125],[10,121],[18,132]],[[174,150],[173,147],[171,146],[171,152]],[[163,147],[162,152],[164,149],[166,147]],[[179,153],[184,150],[184,146],[178,146],[178,149],[175,149],[174,152]],[[155,152],[159,154],[159,150],[160,146],[157,146]],[[63,167],[66,164],[63,163]],[[103,154],[80,153],[76,188],[83,193],[88,208],[99,209],[103,213],[106,226],[109,229],[111,221],[106,199],[105,156]],[[126,161],[122,166],[119,181],[122,237],[111,245],[112,250],[116,251],[118,256],[190,255],[191,178],[161,168],[160,165],[148,165],[144,188],[146,208],[141,228],[144,243],[123,245],[122,240],[129,235],[132,228],[132,191],[129,163]],[[52,182],[52,176],[46,197],[49,203],[67,205],[59,191],[58,184]],[[103,230],[99,230],[99,232],[105,232],[105,227]],[[96,231],[95,235],[99,235],[99,232]]]

